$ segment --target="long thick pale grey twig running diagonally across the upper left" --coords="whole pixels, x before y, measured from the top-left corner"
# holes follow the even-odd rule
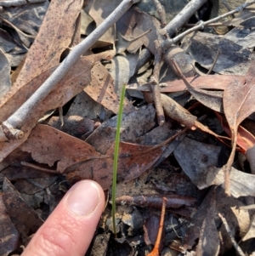
[[[105,34],[113,24],[118,20],[133,3],[138,3],[139,0],[123,0],[122,3],[90,34],[82,43],[77,44],[65,60],[58,66],[48,79],[42,83],[42,86],[14,112],[8,120],[3,122],[5,127],[21,128],[26,119],[29,118],[33,111],[34,105],[44,100],[47,95],[54,89],[58,82],[65,77],[67,71],[77,62],[79,57],[93,46],[93,44]]]

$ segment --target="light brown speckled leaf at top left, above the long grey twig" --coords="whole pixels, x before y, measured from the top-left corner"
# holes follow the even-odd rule
[[[31,45],[26,62],[14,83],[20,88],[42,71],[59,64],[60,55],[71,44],[75,22],[82,9],[82,1],[51,1],[35,42]]]

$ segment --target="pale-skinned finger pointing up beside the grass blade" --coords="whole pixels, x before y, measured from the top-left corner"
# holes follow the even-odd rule
[[[104,191],[94,181],[73,185],[27,245],[22,256],[83,256],[105,207]]]

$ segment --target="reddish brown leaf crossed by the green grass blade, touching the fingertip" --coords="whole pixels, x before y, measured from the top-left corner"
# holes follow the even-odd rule
[[[118,161],[118,180],[131,180],[139,177],[161,156],[165,145],[146,146],[132,143],[120,143]],[[99,159],[90,159],[65,170],[66,179],[71,183],[81,179],[94,179],[104,190],[112,184],[114,144]]]

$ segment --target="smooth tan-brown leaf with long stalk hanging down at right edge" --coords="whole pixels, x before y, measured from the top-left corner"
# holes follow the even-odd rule
[[[228,87],[224,90],[224,113],[229,123],[232,138],[232,151],[229,160],[224,166],[225,171],[225,191],[230,195],[230,181],[229,174],[231,166],[234,162],[237,131],[240,123],[255,111],[254,97],[255,97],[255,68],[254,62],[250,66],[246,77],[242,82],[234,80],[230,82]]]

